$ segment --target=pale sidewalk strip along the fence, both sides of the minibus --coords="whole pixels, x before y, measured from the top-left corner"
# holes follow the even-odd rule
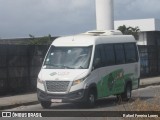
[[[160,77],[141,79],[140,86],[146,87],[154,84],[160,84]],[[0,110],[10,109],[22,105],[37,104],[37,94],[25,94],[8,97],[0,97]]]

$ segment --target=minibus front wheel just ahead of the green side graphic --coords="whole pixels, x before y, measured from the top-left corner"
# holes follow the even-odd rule
[[[90,90],[87,96],[87,107],[93,108],[95,106],[96,95],[93,90]]]

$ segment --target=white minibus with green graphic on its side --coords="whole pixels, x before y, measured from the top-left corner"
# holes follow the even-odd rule
[[[139,87],[136,40],[119,31],[89,31],[59,37],[51,44],[37,79],[43,108],[51,103],[95,101],[111,95],[131,98]]]

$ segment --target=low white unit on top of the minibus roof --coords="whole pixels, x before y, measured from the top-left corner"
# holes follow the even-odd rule
[[[86,33],[83,33],[85,35],[93,35],[93,36],[109,36],[109,35],[122,35],[122,32],[118,30],[93,30],[93,31],[87,31]]]

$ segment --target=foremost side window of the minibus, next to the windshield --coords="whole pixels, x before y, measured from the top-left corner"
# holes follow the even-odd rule
[[[96,69],[101,66],[102,66],[102,58],[101,58],[101,53],[100,53],[100,47],[99,45],[97,45],[95,48],[95,53],[94,53],[93,67]]]

